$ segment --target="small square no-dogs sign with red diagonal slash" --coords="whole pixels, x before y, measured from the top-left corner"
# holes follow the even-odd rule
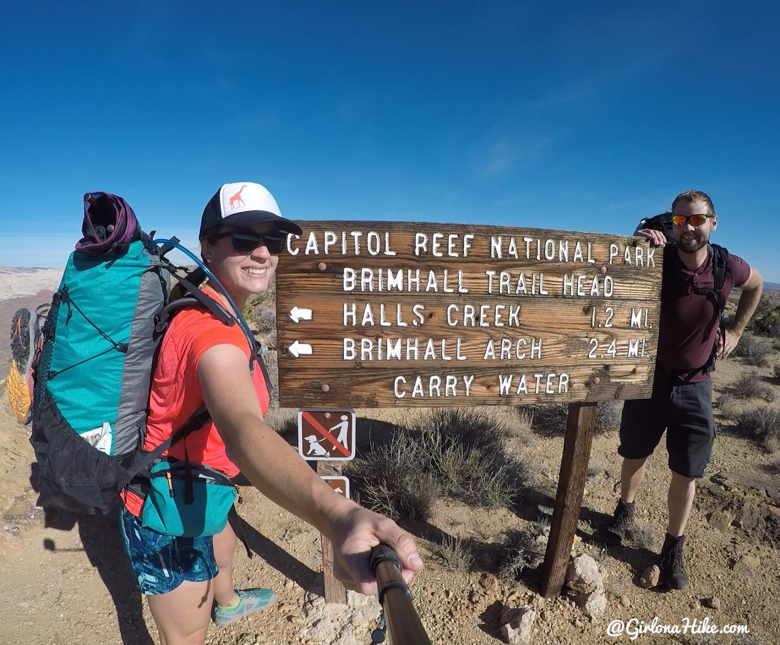
[[[309,461],[355,458],[355,411],[302,408],[298,411],[298,454]]]

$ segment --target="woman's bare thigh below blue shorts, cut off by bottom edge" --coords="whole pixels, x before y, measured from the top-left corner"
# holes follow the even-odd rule
[[[211,621],[214,581],[185,580],[175,590],[147,596],[161,645],[203,645]]]

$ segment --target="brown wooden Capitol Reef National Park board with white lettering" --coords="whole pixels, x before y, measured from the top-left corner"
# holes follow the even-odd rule
[[[649,397],[662,254],[602,233],[299,222],[280,256],[280,404]]]

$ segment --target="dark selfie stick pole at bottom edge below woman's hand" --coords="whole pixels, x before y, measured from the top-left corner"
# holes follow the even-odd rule
[[[412,604],[412,593],[401,575],[398,554],[387,544],[371,549],[371,575],[377,580],[379,604],[385,610],[388,631],[397,645],[431,645]]]

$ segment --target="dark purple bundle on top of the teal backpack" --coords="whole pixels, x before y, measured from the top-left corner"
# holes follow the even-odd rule
[[[81,233],[76,251],[90,255],[122,255],[133,241],[141,238],[133,208],[110,193],[84,195]]]

